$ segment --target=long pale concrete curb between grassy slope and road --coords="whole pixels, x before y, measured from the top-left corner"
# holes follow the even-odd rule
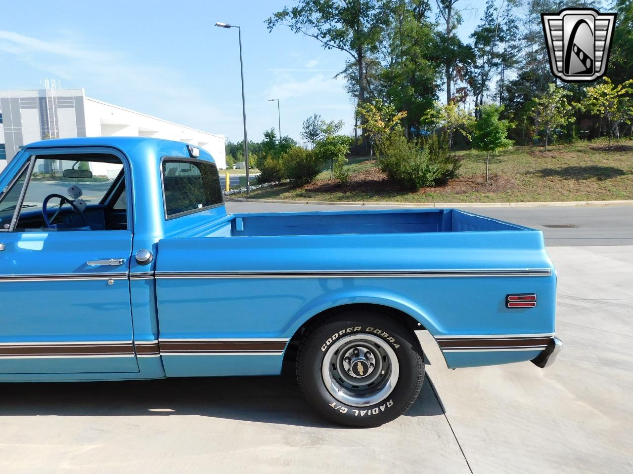
[[[559,202],[362,202],[362,201],[295,201],[284,199],[251,199],[225,196],[227,201],[263,202],[267,204],[313,204],[344,206],[380,206],[380,207],[577,207],[633,205],[633,200],[618,201],[559,201]]]

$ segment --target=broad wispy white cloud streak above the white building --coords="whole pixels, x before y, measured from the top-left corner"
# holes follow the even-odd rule
[[[150,109],[144,107],[141,112],[211,132],[210,117],[222,116],[223,122],[241,120],[239,115],[227,116],[226,111],[212,106],[203,91],[187,84],[180,71],[86,44],[82,39],[44,41],[0,30],[0,54],[10,54],[49,77],[61,78],[66,86],[85,87],[87,95],[96,99],[130,108],[150,104]]]

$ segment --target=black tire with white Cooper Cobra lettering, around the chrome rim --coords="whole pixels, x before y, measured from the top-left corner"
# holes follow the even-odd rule
[[[336,362],[340,362],[342,359],[339,358],[344,357],[347,353],[348,349],[345,349],[345,344],[347,347],[350,347],[350,344],[363,344],[361,336],[367,337],[367,340],[373,342],[377,348],[388,346],[392,349],[389,351],[389,349],[384,348],[384,351],[388,351],[388,353],[382,355],[379,360],[391,362],[391,357],[395,355],[397,364],[393,363],[389,366],[385,363],[385,366],[380,365],[380,368],[387,368],[385,372],[391,372],[389,367],[398,367],[395,385],[391,383],[392,380],[395,380],[392,378],[388,383],[389,387],[384,388],[384,391],[387,391],[392,387],[391,392],[376,401],[375,398],[381,396],[381,392],[378,391],[367,398],[367,401],[371,401],[372,404],[363,406],[359,406],[358,403],[344,403],[341,399],[335,398],[327,389],[324,372],[322,372],[323,363],[327,360],[328,367],[332,367],[334,377],[344,375],[349,378],[347,374],[341,374],[341,370],[337,371],[334,367],[339,367]],[[334,349],[331,350],[332,348]],[[339,351],[341,351],[340,354]],[[379,354],[377,353],[377,355]],[[334,363],[332,363],[333,361]],[[376,360],[375,362],[378,365],[379,362]],[[354,363],[356,362],[352,361],[352,364]],[[406,329],[402,324],[383,313],[354,309],[336,313],[306,330],[299,343],[296,368],[299,387],[308,403],[328,420],[350,427],[377,427],[398,418],[417,399],[420,389],[422,389],[425,373],[422,352],[413,331]],[[323,370],[329,369],[323,368]],[[385,372],[381,370],[377,372],[379,375],[374,376],[381,377],[380,374]],[[349,368],[348,374],[352,374]],[[369,375],[367,374],[367,377]],[[330,375],[326,374],[326,376],[330,378],[330,385],[332,384],[331,380],[336,382]],[[360,375],[357,374],[356,377],[360,377]],[[385,377],[387,376],[385,375]],[[343,382],[342,378],[339,380]],[[387,385],[387,382],[383,383]],[[354,393],[353,391],[354,388],[351,388],[350,392]]]

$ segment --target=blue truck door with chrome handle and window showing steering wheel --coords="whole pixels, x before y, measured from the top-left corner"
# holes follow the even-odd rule
[[[130,213],[120,222],[110,218],[108,206],[122,176],[129,179],[126,158],[111,149],[51,149],[31,154],[3,182],[3,379],[138,371],[128,283]]]

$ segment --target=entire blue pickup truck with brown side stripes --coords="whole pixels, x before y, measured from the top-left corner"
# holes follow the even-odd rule
[[[542,233],[455,209],[227,214],[213,158],[154,138],[33,143],[0,175],[0,380],[276,375],[368,427],[448,367],[551,363]],[[210,395],[212,396],[212,395]]]

